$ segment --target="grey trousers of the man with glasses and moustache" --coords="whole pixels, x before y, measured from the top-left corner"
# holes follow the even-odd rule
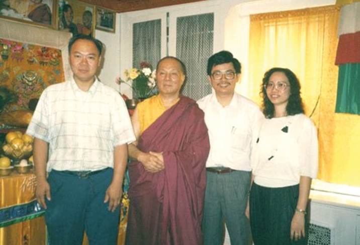
[[[205,206],[202,228],[205,245],[224,244],[225,226],[231,245],[251,242],[250,224],[245,216],[251,173],[206,172]]]

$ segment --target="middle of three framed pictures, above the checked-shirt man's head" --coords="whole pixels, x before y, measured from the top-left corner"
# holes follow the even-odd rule
[[[1,1],[1,0],[0,0]],[[71,32],[72,36],[95,35],[95,6],[75,0],[57,2],[57,28]]]

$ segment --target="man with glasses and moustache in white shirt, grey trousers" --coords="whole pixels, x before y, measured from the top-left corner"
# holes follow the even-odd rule
[[[214,90],[198,101],[205,112],[210,138],[202,222],[204,243],[223,244],[226,223],[231,245],[250,244],[250,225],[245,216],[250,152],[263,115],[255,103],[235,93],[241,65],[230,52],[211,56],[207,73]]]

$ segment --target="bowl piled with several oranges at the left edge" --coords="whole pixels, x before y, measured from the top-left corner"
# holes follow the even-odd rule
[[[12,160],[12,165],[19,164],[33,154],[34,138],[20,131],[11,131],[5,136],[6,143],[2,149],[4,155]]]

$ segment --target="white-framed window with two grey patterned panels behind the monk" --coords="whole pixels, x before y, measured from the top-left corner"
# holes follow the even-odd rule
[[[219,12],[216,7],[218,3],[194,3],[186,8],[182,5],[121,15],[121,70],[138,67],[144,60],[155,68],[161,58],[175,56],[187,68],[182,93],[195,100],[210,94],[207,60],[220,44],[214,38],[214,32],[220,29],[216,25],[215,13]],[[219,35],[223,33],[218,31]],[[123,86],[121,92],[131,95]]]

